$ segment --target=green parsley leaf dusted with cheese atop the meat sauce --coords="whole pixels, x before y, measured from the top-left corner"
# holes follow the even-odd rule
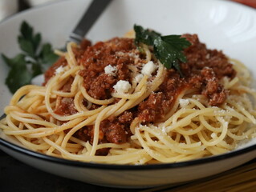
[[[187,61],[183,50],[191,46],[186,38],[181,38],[181,35],[176,34],[161,36],[153,30],[144,30],[142,26],[136,25],[134,25],[134,31],[136,32],[136,46],[140,46],[140,43],[153,46],[156,58],[167,69],[175,68],[181,74],[180,62]]]

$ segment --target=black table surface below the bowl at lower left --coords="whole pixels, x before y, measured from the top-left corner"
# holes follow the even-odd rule
[[[21,174],[22,173],[22,174]],[[21,176],[22,175],[22,176]],[[77,182],[68,178],[62,178],[53,174],[48,174],[42,170],[27,166],[10,155],[0,150],[0,191],[1,192],[23,192],[23,191],[112,191],[126,192],[137,191],[127,189],[108,188],[104,186],[94,186],[84,182]]]

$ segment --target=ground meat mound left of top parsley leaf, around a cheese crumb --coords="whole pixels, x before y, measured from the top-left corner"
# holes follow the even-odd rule
[[[113,38],[108,42],[98,42],[95,46],[87,47],[82,61],[85,69],[79,74],[83,77],[83,86],[92,98],[111,98],[116,82],[131,80],[128,65],[134,64],[134,59],[125,54],[126,52],[136,52],[132,39]],[[104,68],[108,65],[116,66],[116,75],[104,73]]]

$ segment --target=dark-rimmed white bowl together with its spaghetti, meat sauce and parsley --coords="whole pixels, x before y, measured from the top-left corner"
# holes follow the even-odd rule
[[[1,150],[116,187],[187,182],[256,158],[254,9],[113,1],[83,42],[62,49],[89,3],[59,1],[0,23]]]

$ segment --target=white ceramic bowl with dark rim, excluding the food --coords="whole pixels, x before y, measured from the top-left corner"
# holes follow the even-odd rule
[[[89,3],[89,0],[59,1],[6,19],[0,23],[0,52],[9,57],[18,53],[18,28],[23,20],[34,26],[35,31],[40,31],[45,42],[62,47]],[[95,23],[87,38],[96,42],[122,36],[134,23],[162,34],[198,34],[209,48],[238,58],[256,74],[256,11],[250,7],[223,0],[116,0]],[[11,97],[4,85],[7,70],[0,60],[0,113]],[[0,139],[0,149],[30,166],[104,186],[146,187],[185,182],[230,170],[256,158],[255,139],[246,148],[228,154],[156,166],[72,162],[31,152],[11,142]]]

